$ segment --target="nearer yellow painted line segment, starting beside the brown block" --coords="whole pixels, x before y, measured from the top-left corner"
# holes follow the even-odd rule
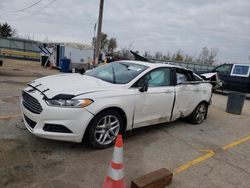
[[[202,161],[205,161],[205,160],[213,157],[214,155],[215,155],[215,152],[213,150],[208,150],[207,154],[205,154],[205,155],[203,155],[201,157],[198,157],[198,158],[196,158],[196,159],[194,159],[194,160],[192,160],[192,161],[178,167],[174,171],[174,175],[179,174],[180,172],[183,172],[183,171],[189,169],[190,167],[192,167],[192,166],[194,166],[194,165],[196,165],[198,163],[201,163]]]

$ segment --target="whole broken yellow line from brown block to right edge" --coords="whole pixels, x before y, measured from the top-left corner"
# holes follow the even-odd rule
[[[247,142],[247,141],[250,141],[250,135],[247,136],[247,137],[244,137],[242,139],[236,140],[236,141],[234,141],[234,142],[232,142],[230,144],[227,144],[227,145],[223,146],[222,149],[225,151],[225,150],[233,148],[233,147],[235,147],[235,146],[237,146],[237,145],[239,145],[241,143]],[[187,162],[184,165],[181,165],[180,167],[178,167],[174,171],[174,175],[176,175],[178,173],[181,173],[181,172],[191,168],[192,166],[197,165],[197,164],[201,163],[202,161],[205,161],[205,160],[213,157],[216,154],[216,152],[213,151],[213,150],[200,150],[200,151],[205,151],[207,153],[205,155],[202,155],[201,157],[198,157],[198,158],[196,158],[196,159],[194,159],[192,161]]]

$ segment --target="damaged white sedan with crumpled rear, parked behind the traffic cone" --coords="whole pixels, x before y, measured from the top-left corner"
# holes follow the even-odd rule
[[[34,80],[23,90],[27,129],[39,137],[111,146],[118,133],[187,118],[207,117],[212,85],[168,64],[117,61],[82,74]]]

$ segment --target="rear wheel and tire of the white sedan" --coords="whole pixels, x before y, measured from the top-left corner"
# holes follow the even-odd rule
[[[207,117],[208,105],[205,102],[200,103],[195,110],[190,114],[188,120],[192,124],[200,124]]]

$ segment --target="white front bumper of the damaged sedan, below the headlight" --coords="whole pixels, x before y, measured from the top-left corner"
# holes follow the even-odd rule
[[[85,130],[93,118],[93,114],[85,108],[61,108],[48,106],[43,100],[43,96],[39,91],[29,93],[36,98],[41,104],[43,111],[35,114],[23,106],[21,100],[21,111],[23,114],[24,124],[27,129],[34,135],[70,142],[81,142]],[[52,132],[44,129],[45,125],[62,125],[69,132]]]

